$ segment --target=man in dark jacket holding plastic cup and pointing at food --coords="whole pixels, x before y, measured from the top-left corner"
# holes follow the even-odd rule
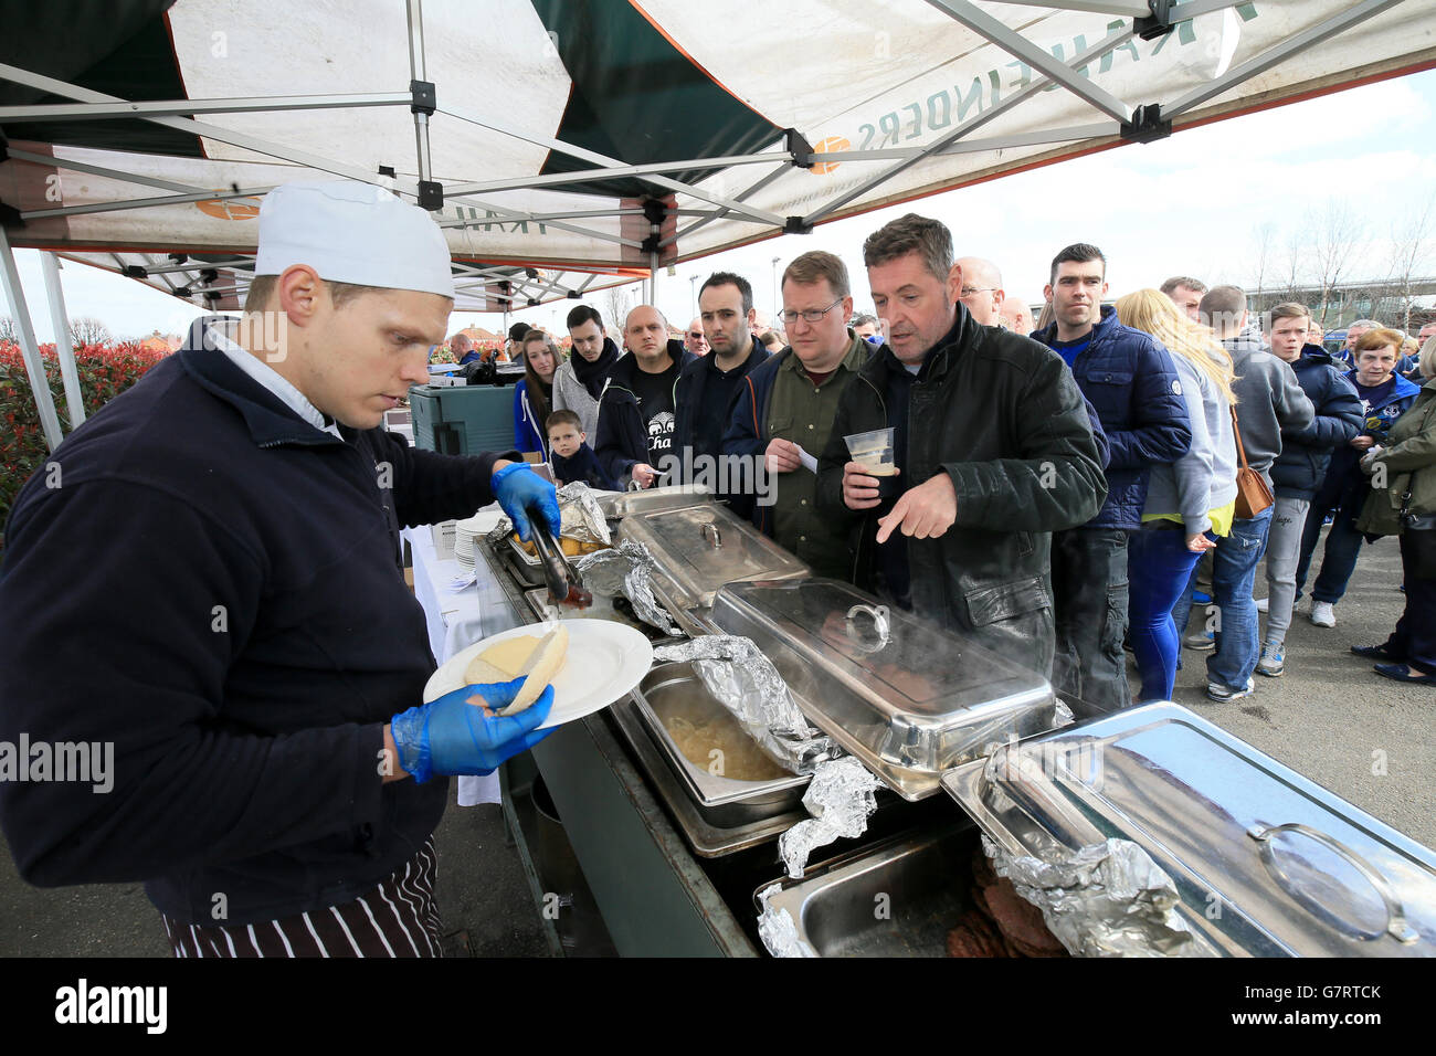
[[[1107,486],[1071,372],[974,323],[952,260],[948,228],[912,213],[863,244],[889,346],[839,401],[819,504],[857,522],[859,585],[1048,677],[1048,533],[1090,520]],[[843,437],[885,427],[899,476],[879,480]]]

